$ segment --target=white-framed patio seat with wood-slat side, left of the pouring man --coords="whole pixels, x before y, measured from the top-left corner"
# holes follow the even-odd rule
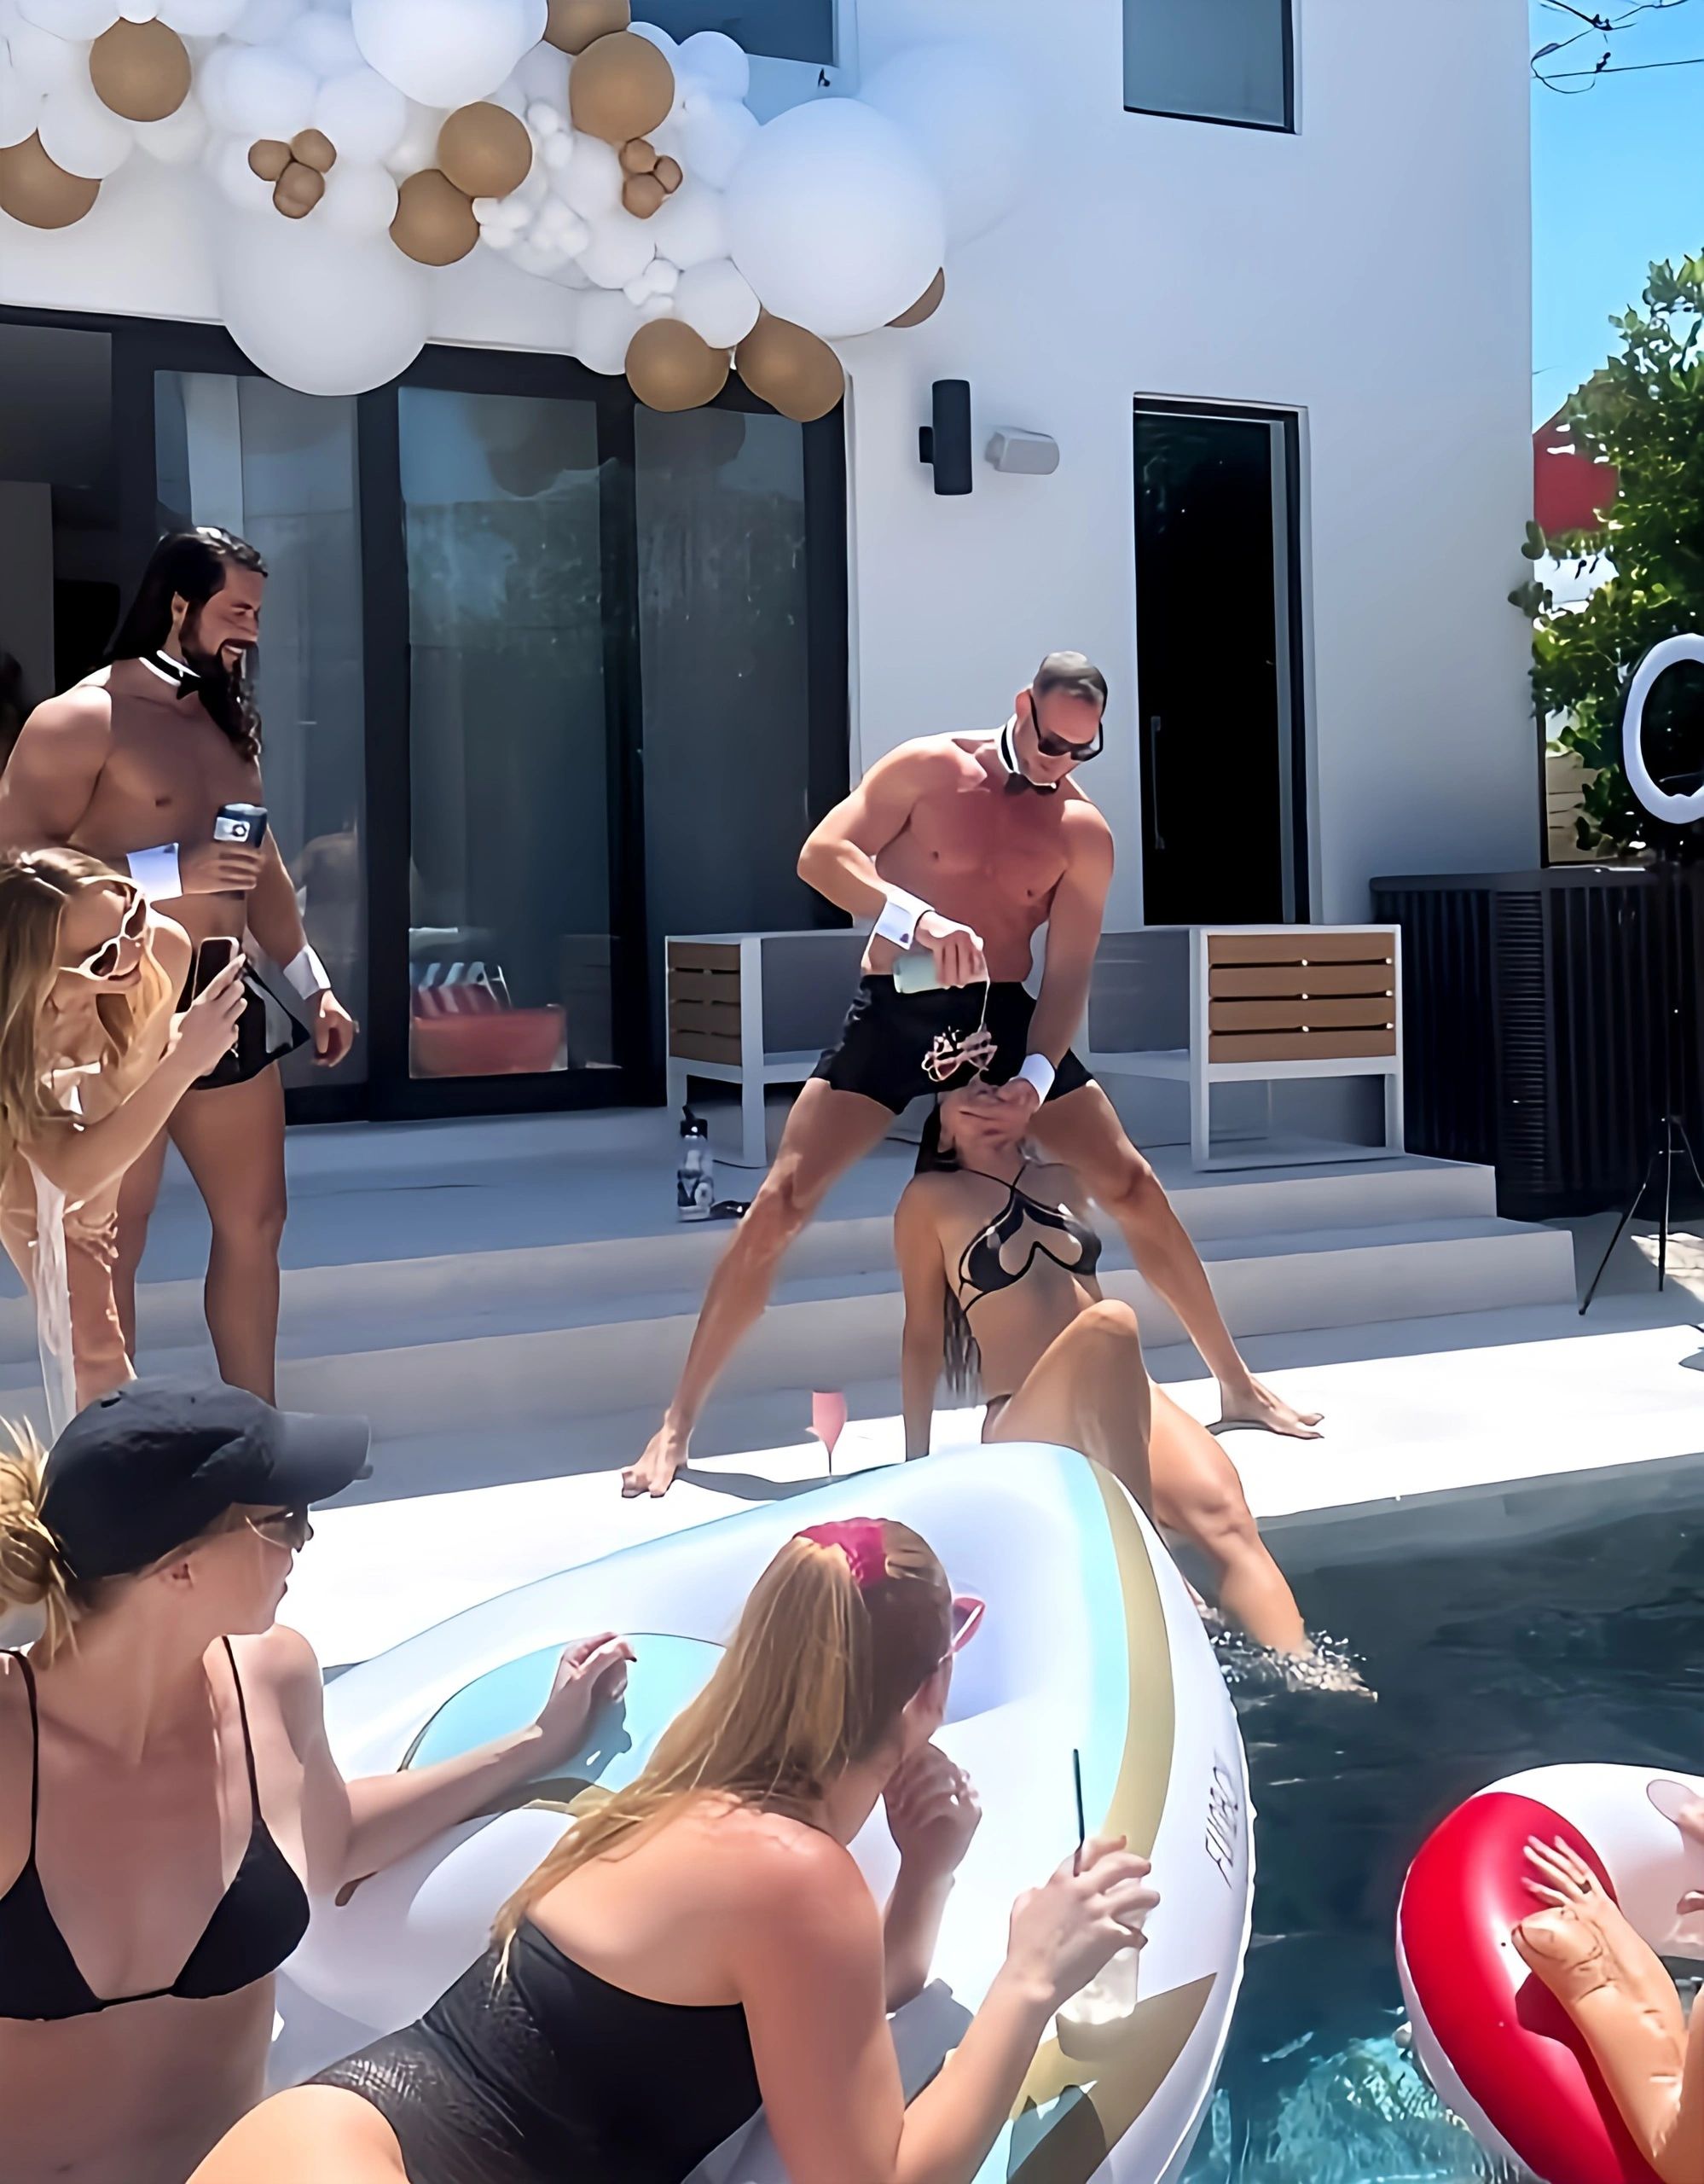
[[[762,1168],[765,1094],[802,1085],[835,1042],[859,983],[865,933],[679,933],[664,941],[668,1105],[693,1077],[738,1085],[734,1166]],[[730,1155],[723,1155],[730,1158]]]

